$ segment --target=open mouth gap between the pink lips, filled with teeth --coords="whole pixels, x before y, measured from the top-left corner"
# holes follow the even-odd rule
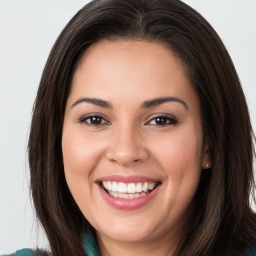
[[[123,199],[134,199],[151,193],[161,182],[123,183],[101,181],[100,186],[111,196]]]

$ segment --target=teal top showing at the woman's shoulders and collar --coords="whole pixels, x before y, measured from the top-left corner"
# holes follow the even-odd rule
[[[87,233],[83,237],[84,248],[88,256],[100,256],[97,242],[91,233]],[[30,249],[19,250],[16,253],[2,256],[35,256],[34,251]],[[256,247],[249,249],[244,256],[256,256]]]

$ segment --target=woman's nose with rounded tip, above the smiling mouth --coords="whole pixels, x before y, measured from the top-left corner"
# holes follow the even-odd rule
[[[146,161],[149,157],[143,136],[135,128],[120,128],[109,138],[107,158],[123,166]]]

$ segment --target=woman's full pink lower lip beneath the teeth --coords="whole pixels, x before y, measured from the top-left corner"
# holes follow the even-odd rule
[[[141,196],[133,199],[124,199],[124,198],[111,196],[100,185],[98,186],[104,200],[110,206],[119,210],[135,210],[135,209],[142,208],[154,198],[154,196],[157,194],[160,187],[160,185],[158,185],[153,191],[151,191],[145,196]]]

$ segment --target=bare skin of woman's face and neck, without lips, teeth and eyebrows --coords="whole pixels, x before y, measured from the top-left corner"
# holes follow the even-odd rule
[[[77,102],[84,97],[111,107]],[[184,104],[142,107],[162,97]],[[88,115],[101,118],[92,125]],[[156,122],[159,116],[165,116],[162,122]],[[62,150],[67,184],[96,229],[101,255],[173,252],[186,232],[201,171],[210,164],[203,142],[198,97],[184,64],[169,49],[154,42],[104,40],[86,51],[66,105]],[[161,185],[145,206],[120,210],[105,202],[96,183],[115,174],[142,175]]]

